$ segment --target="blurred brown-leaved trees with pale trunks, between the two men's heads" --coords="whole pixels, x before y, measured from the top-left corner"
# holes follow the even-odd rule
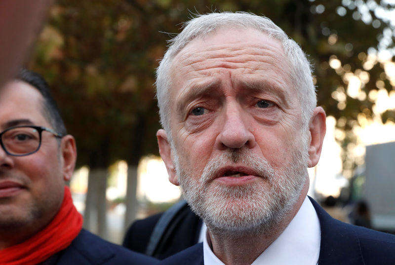
[[[158,47],[144,16],[121,0],[57,1],[30,67],[48,80],[77,139],[78,164],[90,168],[85,224],[96,214],[101,235],[108,166],[125,159],[136,170],[143,154],[157,153],[152,84],[164,47]],[[135,176],[129,178],[131,198]]]

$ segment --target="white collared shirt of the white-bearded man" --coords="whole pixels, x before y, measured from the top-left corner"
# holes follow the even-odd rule
[[[204,265],[224,265],[212,252],[207,228],[203,224]],[[201,233],[201,234],[202,234]],[[319,220],[308,197],[288,227],[251,265],[316,265],[319,256],[321,229]]]

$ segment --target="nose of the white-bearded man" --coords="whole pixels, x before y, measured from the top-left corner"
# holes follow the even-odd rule
[[[226,111],[221,132],[216,139],[218,148],[253,148],[256,144],[255,136],[248,123],[248,114],[242,110],[236,108]]]

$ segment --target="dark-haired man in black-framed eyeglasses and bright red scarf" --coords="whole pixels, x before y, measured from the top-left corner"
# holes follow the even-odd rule
[[[0,89],[0,264],[152,265],[81,229],[70,180],[76,143],[46,82],[22,70]]]

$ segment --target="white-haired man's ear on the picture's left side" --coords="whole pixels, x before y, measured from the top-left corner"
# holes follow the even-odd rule
[[[179,186],[180,184],[177,179],[176,170],[172,159],[172,151],[171,151],[170,143],[167,138],[166,131],[163,129],[158,130],[157,138],[158,138],[159,154],[162,157],[164,164],[166,165],[167,174],[169,174],[169,181],[172,184]]]

